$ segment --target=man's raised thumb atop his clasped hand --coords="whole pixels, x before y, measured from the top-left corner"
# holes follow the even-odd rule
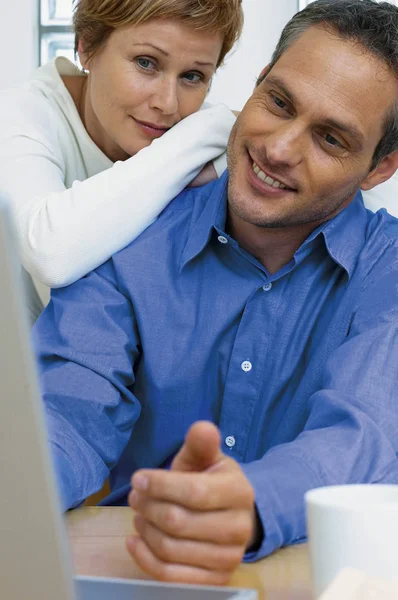
[[[220,443],[217,427],[208,421],[198,421],[188,431],[172,462],[172,471],[205,471],[216,465],[225,459]]]

